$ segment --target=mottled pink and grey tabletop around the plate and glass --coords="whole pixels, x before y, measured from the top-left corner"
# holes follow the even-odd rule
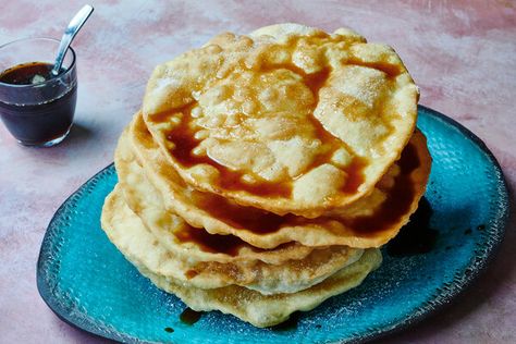
[[[494,152],[516,187],[516,5],[512,1],[91,1],[74,42],[79,94],[70,137],[19,146],[0,125],[0,342],[103,342],[59,320],[40,299],[35,268],[61,202],[112,161],[152,67],[222,30],[279,22],[349,26],[392,45],[421,88],[420,103],[459,121]],[[0,44],[59,38],[83,1],[8,1]],[[489,271],[457,303],[391,343],[515,343],[515,217]]]

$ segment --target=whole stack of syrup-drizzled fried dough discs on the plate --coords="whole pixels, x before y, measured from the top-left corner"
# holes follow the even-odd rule
[[[430,173],[418,89],[349,29],[222,34],[156,67],[102,228],[158,287],[257,327],[357,286]]]

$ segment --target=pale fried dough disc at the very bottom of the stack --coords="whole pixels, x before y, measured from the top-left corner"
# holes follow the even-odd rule
[[[281,323],[294,311],[311,310],[325,299],[358,286],[382,261],[380,250],[369,248],[358,261],[307,290],[292,294],[262,295],[238,285],[211,290],[185,285],[172,278],[164,278],[150,271],[137,255],[128,251],[124,255],[143,275],[165,292],[175,294],[192,309],[220,310],[258,328]]]

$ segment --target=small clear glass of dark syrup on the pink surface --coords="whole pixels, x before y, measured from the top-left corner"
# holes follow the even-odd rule
[[[77,100],[75,52],[69,49],[58,75],[53,66],[59,40],[20,39],[0,47],[0,116],[25,146],[62,142],[73,123]]]

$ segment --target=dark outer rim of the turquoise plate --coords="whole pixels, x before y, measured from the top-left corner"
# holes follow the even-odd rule
[[[499,251],[499,248],[503,242],[503,238],[505,235],[505,228],[506,228],[508,217],[509,217],[511,200],[508,197],[507,182],[505,180],[503,170],[499,161],[494,157],[493,152],[487,147],[486,143],[482,139],[480,139],[470,130],[468,130],[467,127],[465,127],[463,124],[458,123],[457,121],[449,118],[447,115],[437,110],[433,110],[426,106],[418,105],[418,113],[420,111],[423,111],[426,114],[433,116],[444,122],[445,124],[449,124],[453,126],[454,128],[458,130],[459,133],[464,137],[468,138],[474,145],[476,145],[489,159],[496,174],[494,179],[496,180],[496,187],[499,191],[497,209],[495,211],[495,216],[493,217],[494,219],[493,224],[490,226],[490,234],[494,233],[496,235],[490,235],[488,237],[487,243],[486,243],[487,249],[483,251],[483,255],[480,257],[480,259],[476,260],[476,268],[471,271],[471,273],[463,274],[460,279],[457,279],[457,277],[455,275],[453,281],[450,283],[451,287],[447,288],[446,291],[440,291],[434,297],[431,298],[431,303],[421,304],[420,307],[416,308],[414,311],[406,315],[403,319],[395,321],[393,324],[386,324],[374,330],[369,330],[367,333],[359,334],[354,339],[337,340],[334,343],[345,343],[346,341],[361,343],[366,341],[382,339],[382,337],[392,335],[394,333],[404,331],[408,328],[411,328],[422,322],[425,319],[442,311],[444,308],[450,306],[453,300],[457,299],[457,297],[459,297],[467,290],[469,290],[470,286],[479,279],[479,277],[481,277],[486,272],[486,270],[490,266],[490,262],[496,256],[496,253]],[[42,269],[42,266],[45,265],[44,259],[47,257],[47,251],[48,251],[48,248],[50,247],[49,245],[49,241],[51,236],[50,233],[57,231],[57,226],[59,224],[58,218],[61,217],[61,213],[64,211],[65,208],[70,207],[70,204],[73,202],[73,198],[77,197],[76,195],[88,192],[88,187],[90,186],[90,184],[95,183],[95,181],[100,175],[107,173],[112,167],[113,167],[113,163],[110,163],[106,168],[101,169],[99,172],[95,173],[95,175],[88,179],[75,192],[73,192],[69,197],[66,197],[66,199],[53,213],[51,220],[49,221],[47,230],[45,232],[45,236],[41,241],[39,256],[38,256],[38,260],[36,265],[37,290],[40,297],[42,298],[45,304],[50,308],[50,310],[52,310],[52,312],[56,314],[56,316],[59,319],[61,319],[62,321],[64,321],[65,323],[70,324],[71,327],[75,329],[88,332],[97,337],[103,337],[103,339],[109,339],[109,340],[131,342],[131,343],[153,343],[153,342],[140,340],[138,337],[134,337],[126,333],[120,332],[115,329],[110,330],[106,325],[101,325],[101,327],[94,325],[91,319],[85,319],[87,320],[86,322],[83,322],[83,321],[81,321],[79,323],[74,322],[73,321],[74,319],[72,319],[70,317],[70,314],[66,312],[65,307],[63,307],[60,303],[54,303],[53,298],[51,297],[53,287],[48,285],[46,283],[47,282],[46,279],[44,278],[45,275],[47,275],[47,272]],[[470,267],[470,265],[468,265],[466,268],[468,267]]]

